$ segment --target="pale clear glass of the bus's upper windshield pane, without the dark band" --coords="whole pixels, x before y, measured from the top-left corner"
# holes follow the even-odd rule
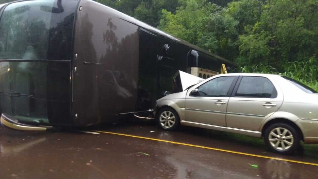
[[[8,5],[0,21],[0,59],[47,59],[54,0]]]

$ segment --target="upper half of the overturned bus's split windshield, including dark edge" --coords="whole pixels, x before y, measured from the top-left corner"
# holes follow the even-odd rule
[[[8,5],[0,21],[0,59],[71,60],[76,1]]]

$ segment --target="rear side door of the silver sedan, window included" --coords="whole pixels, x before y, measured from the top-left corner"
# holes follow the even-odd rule
[[[283,102],[283,94],[274,84],[264,76],[240,76],[227,106],[227,127],[258,131],[265,117]]]

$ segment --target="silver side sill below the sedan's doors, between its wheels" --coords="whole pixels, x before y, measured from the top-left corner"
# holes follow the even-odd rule
[[[232,127],[224,127],[224,126],[218,126],[218,125],[210,125],[210,124],[203,124],[198,122],[190,122],[190,121],[180,121],[182,125],[189,125],[194,127],[202,127],[206,129],[212,129],[212,130],[218,130],[218,131],[224,131],[224,132],[234,132],[244,135],[249,135],[253,137],[261,137],[262,133],[259,131],[250,131],[245,129],[238,129],[238,128],[232,128]]]

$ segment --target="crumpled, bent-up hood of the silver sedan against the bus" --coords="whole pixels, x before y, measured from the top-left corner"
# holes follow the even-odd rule
[[[173,77],[174,89],[176,92],[181,92],[203,80],[203,78],[178,70]]]

